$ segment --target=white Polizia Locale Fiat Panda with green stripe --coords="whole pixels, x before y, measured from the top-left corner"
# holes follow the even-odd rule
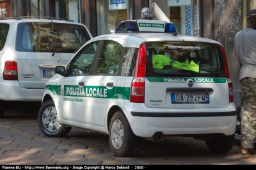
[[[237,112],[223,46],[177,35],[172,22],[123,21],[55,72],[38,112],[49,137],[71,127],[109,134],[118,157],[131,156],[138,137],[184,135],[217,153],[232,148]]]

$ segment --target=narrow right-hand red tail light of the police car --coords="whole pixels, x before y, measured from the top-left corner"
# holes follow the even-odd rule
[[[232,81],[229,77],[227,57],[226,57],[226,53],[225,53],[225,50],[224,50],[222,45],[220,45],[220,49],[221,49],[222,56],[223,56],[223,61],[224,61],[225,76],[226,76],[226,79],[227,79],[227,82],[228,82],[229,102],[232,103],[232,102],[234,102],[233,84],[232,84]]]

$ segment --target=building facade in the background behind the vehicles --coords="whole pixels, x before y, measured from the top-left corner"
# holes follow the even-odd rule
[[[154,10],[154,19],[173,22],[182,35],[220,42],[230,78],[239,83],[234,37],[246,27],[246,13],[256,8],[256,0],[0,0],[0,16],[66,18],[98,36],[113,33],[121,20],[140,19],[144,7]]]

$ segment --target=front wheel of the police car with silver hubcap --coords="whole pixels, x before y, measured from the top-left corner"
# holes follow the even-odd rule
[[[71,130],[71,127],[65,127],[58,121],[53,100],[48,100],[40,107],[37,120],[42,133],[49,137],[63,137]]]

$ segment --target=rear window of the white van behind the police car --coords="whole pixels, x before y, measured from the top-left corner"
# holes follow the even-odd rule
[[[76,52],[90,40],[85,27],[54,22],[18,24],[16,50],[20,52]]]

